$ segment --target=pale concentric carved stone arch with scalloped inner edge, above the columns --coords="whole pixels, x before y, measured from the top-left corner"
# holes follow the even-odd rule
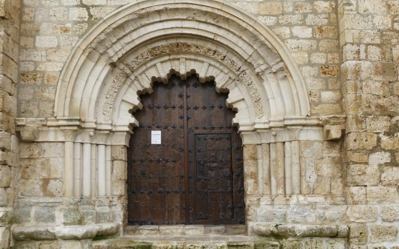
[[[173,73],[215,80],[240,130],[299,124],[309,113],[292,57],[254,17],[220,0],[139,0],[104,17],[73,50],[55,116],[127,130],[137,125],[138,96]]]

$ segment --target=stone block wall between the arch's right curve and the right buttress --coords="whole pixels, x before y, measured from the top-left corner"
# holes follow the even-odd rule
[[[340,114],[340,53],[335,0],[231,1],[256,14],[290,51],[305,77],[311,113]]]

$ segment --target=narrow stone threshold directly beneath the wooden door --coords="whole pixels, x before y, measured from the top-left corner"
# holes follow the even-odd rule
[[[124,236],[231,236],[246,235],[245,225],[128,225]]]

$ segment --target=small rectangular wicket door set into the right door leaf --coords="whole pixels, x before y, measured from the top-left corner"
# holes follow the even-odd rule
[[[195,140],[196,219],[230,220],[234,218],[231,134],[196,134]]]

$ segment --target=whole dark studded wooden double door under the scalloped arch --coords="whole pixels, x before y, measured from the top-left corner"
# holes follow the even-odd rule
[[[243,224],[243,154],[227,95],[213,82],[175,75],[153,90],[134,114],[129,224]]]

